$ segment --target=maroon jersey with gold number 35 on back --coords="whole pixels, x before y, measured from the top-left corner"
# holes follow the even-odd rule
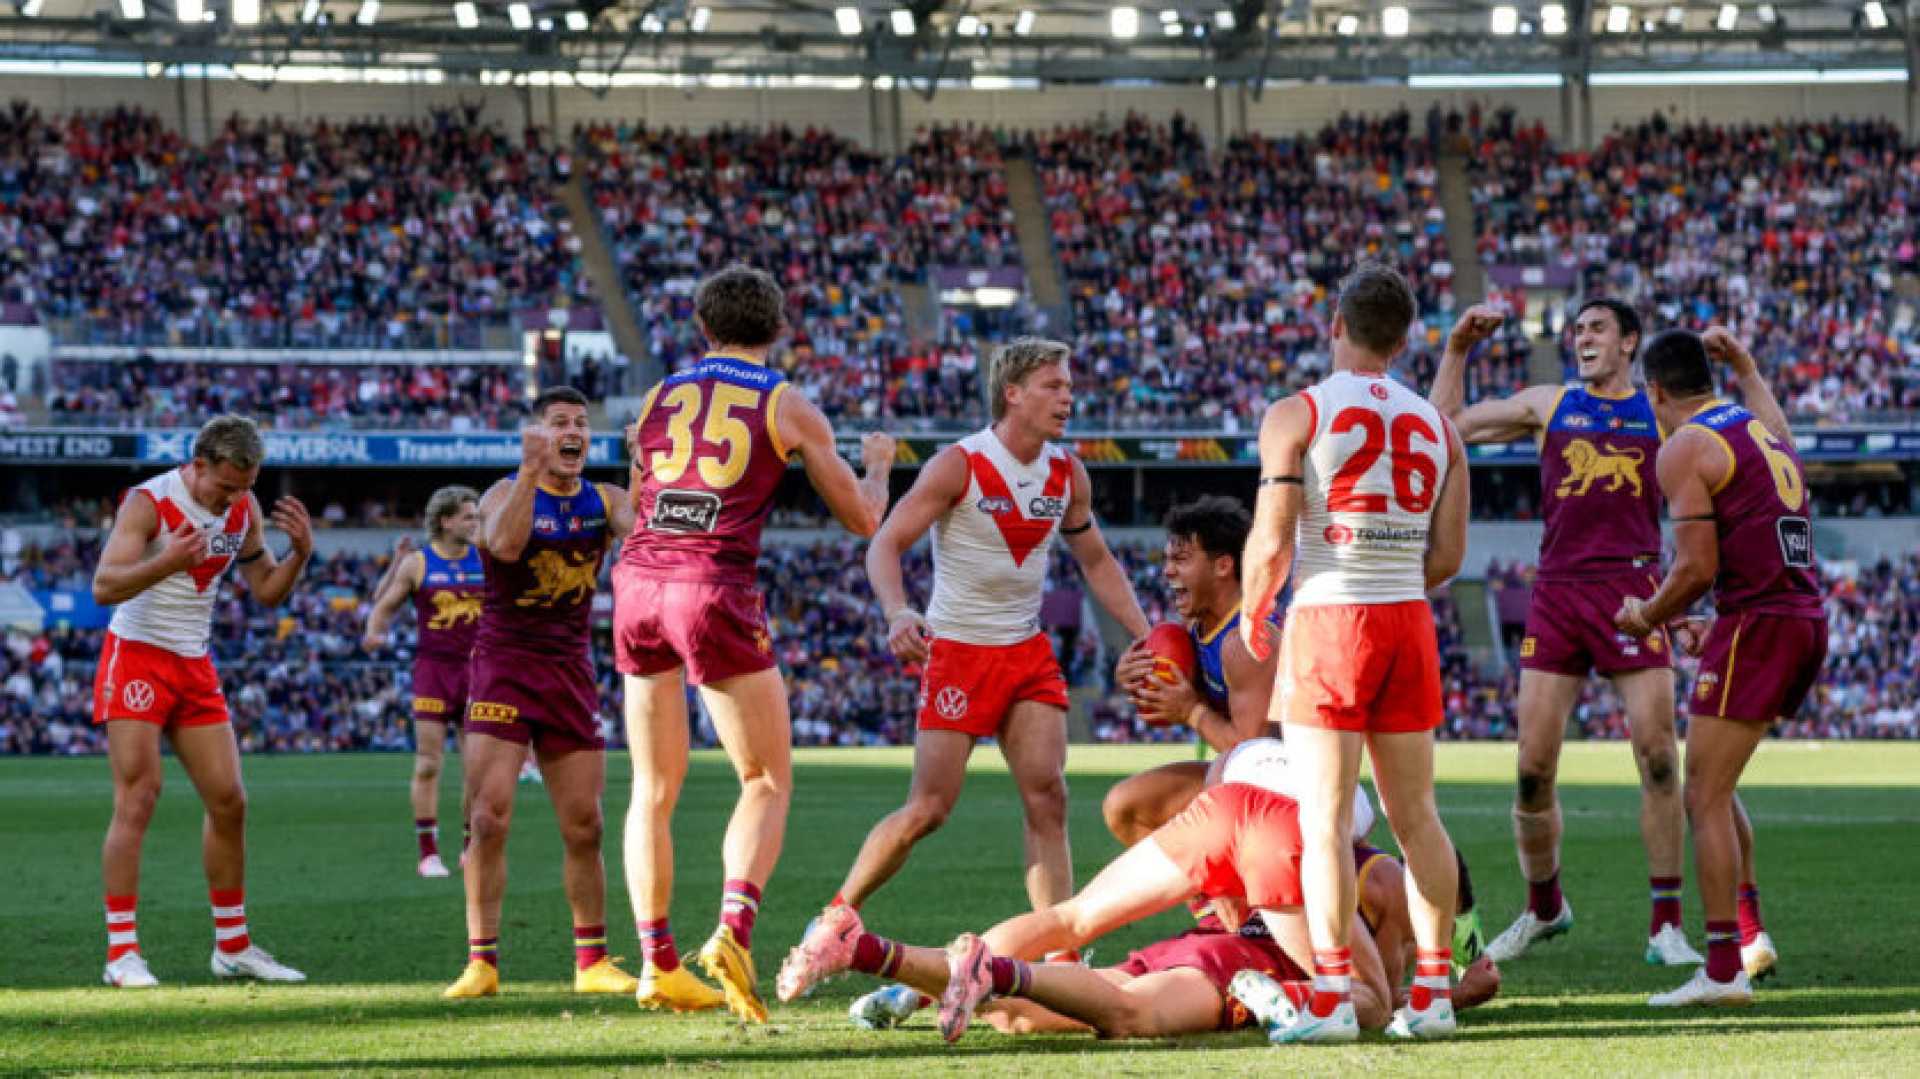
[[[774,422],[785,378],[714,353],[647,396],[634,447],[634,534],[620,563],[657,580],[755,584],[760,528],[787,472]]]

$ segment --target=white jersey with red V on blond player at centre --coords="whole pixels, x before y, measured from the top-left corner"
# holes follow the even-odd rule
[[[966,493],[933,522],[933,635],[968,645],[1018,645],[1041,632],[1046,559],[1073,501],[1073,457],[1052,444],[1031,463],[993,428],[960,440]]]

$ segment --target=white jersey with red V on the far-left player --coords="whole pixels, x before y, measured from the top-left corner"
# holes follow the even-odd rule
[[[207,655],[207,643],[213,639],[213,599],[219,595],[221,578],[246,543],[252,499],[244,495],[234,499],[227,513],[204,509],[186,492],[179,468],[154,476],[127,492],[127,497],[150,499],[159,518],[159,526],[146,538],[142,559],[157,555],[167,536],[180,524],[205,534],[213,557],[121,603],[113,609],[113,622],[108,628],[125,641],[142,641],[190,659]]]

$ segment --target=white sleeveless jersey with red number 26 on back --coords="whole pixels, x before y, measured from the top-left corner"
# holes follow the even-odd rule
[[[1427,595],[1427,532],[1448,470],[1446,422],[1384,376],[1340,371],[1313,411],[1296,534],[1294,607]]]

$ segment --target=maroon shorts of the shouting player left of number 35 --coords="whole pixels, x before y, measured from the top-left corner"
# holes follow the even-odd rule
[[[467,733],[553,753],[607,749],[593,660],[586,653],[559,657],[480,645],[467,678]]]

